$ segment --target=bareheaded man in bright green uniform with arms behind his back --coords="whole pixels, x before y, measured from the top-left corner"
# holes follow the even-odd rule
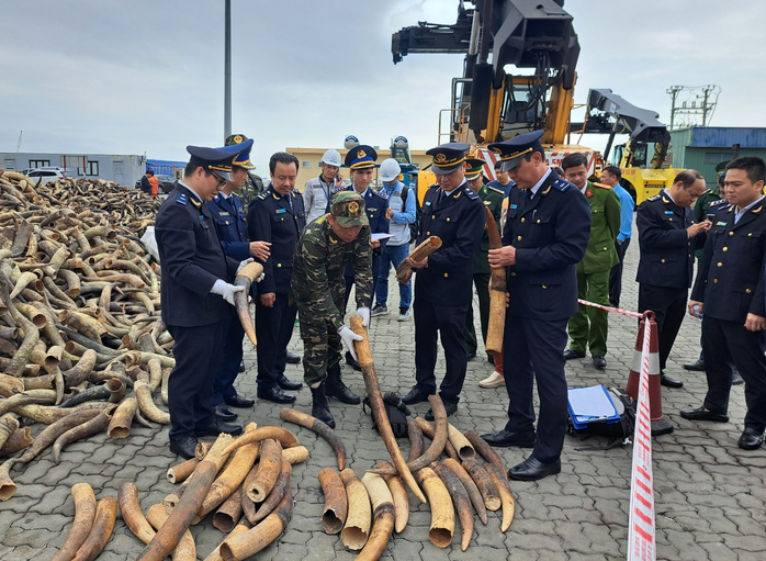
[[[584,154],[572,153],[561,161],[564,179],[572,182],[585,195],[590,206],[590,240],[585,257],[577,263],[577,298],[596,304],[609,305],[609,273],[620,262],[615,239],[620,233],[620,199],[609,186],[592,183],[588,178],[588,159]],[[590,349],[596,368],[606,368],[608,312],[579,304],[570,319],[572,344],[564,351],[564,359],[585,357]]]

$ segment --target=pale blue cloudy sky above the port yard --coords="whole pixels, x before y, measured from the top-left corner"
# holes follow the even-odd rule
[[[222,1],[0,2],[0,152],[185,159],[223,143]],[[437,144],[460,55],[409,55],[391,34],[453,23],[454,0],[233,0],[233,128],[254,160],[286,146]],[[766,2],[567,0],[582,53],[575,102],[611,88],[669,122],[675,85],[722,88],[712,125],[766,126]],[[752,22],[752,23],[750,23]],[[582,117],[575,115],[576,119]],[[600,148],[604,138],[583,144]]]

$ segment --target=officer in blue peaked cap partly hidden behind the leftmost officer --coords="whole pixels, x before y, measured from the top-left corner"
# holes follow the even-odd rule
[[[245,211],[239,197],[235,191],[240,191],[247,181],[247,170],[254,169],[250,162],[250,150],[252,139],[247,139],[245,135],[232,135],[239,138],[239,144],[229,144],[222,152],[233,155],[232,159],[232,181],[227,181],[223,190],[212,201],[205,203],[213,215],[213,223],[218,233],[221,245],[226,255],[237,261],[243,261],[250,257],[256,257],[264,251],[268,255],[268,246],[259,242],[247,240],[247,223]],[[257,285],[256,285],[257,287]],[[245,329],[239,322],[239,317],[234,314],[229,318],[228,329],[222,352],[218,373],[215,378],[213,407],[215,414],[222,420],[234,420],[237,414],[230,407],[252,407],[255,401],[244,397],[234,388],[234,381],[239,373],[243,360],[243,339]]]

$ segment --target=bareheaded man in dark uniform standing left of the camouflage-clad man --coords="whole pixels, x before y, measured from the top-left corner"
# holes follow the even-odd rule
[[[288,345],[297,307],[290,303],[290,277],[295,243],[306,225],[303,197],[295,191],[297,158],[278,152],[269,160],[271,183],[248,207],[248,232],[254,242],[271,244],[271,256],[261,261],[266,278],[258,284],[256,336],[258,337],[258,399],[292,403],[301,382],[284,375]]]

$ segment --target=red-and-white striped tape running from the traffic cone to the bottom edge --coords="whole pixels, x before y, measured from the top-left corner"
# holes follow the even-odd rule
[[[652,423],[649,406],[650,340],[652,329],[644,323],[641,351],[641,379],[635,411],[633,465],[630,478],[630,521],[628,524],[628,561],[655,561],[654,484],[652,475]]]

